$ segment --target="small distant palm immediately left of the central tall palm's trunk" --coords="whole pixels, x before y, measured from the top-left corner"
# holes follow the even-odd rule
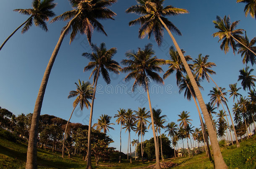
[[[136,114],[136,123],[138,126],[141,127],[140,131],[143,130],[143,126],[147,126],[146,123],[149,123],[149,121],[147,120],[150,115],[149,115],[149,111],[146,110],[146,108],[141,108],[139,107],[138,108],[138,111],[134,111],[135,114]],[[142,133],[143,132],[140,132],[141,133],[141,161],[142,163],[144,163],[143,161],[143,150],[142,150]]]

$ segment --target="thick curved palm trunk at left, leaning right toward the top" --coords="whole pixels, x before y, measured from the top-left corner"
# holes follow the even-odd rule
[[[68,28],[70,28],[71,23],[73,22],[73,20],[76,19],[76,17],[78,17],[78,15],[80,14],[80,12],[78,12],[76,14],[76,16],[69,21],[67,27],[65,28],[65,30],[63,30],[63,32],[60,35],[60,38],[57,42],[57,45],[55,46],[53,52],[52,52],[52,56],[50,58],[50,61],[46,67],[46,70],[44,71],[44,76],[38,91],[38,95],[37,95],[37,100],[35,103],[35,108],[34,108],[34,113],[32,116],[32,121],[31,121],[31,128],[30,128],[30,132],[29,132],[29,145],[28,145],[28,151],[27,151],[27,161],[26,161],[26,169],[36,169],[37,168],[37,135],[38,135],[38,124],[39,124],[39,117],[40,117],[40,113],[41,113],[41,108],[42,108],[42,103],[43,103],[43,99],[44,99],[44,93],[45,93],[45,89],[47,86],[47,82],[52,70],[52,66],[53,63],[55,61],[55,58],[57,56],[57,53],[60,49],[60,45],[65,37],[65,33],[67,32]]]

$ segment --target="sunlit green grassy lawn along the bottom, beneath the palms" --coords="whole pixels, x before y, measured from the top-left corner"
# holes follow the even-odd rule
[[[245,140],[240,143],[240,147],[236,148],[235,145],[228,146],[222,150],[222,156],[228,157],[230,154],[236,153],[244,149],[246,146],[250,146],[256,143],[256,136],[249,140]],[[23,143],[14,143],[0,138],[0,168],[1,169],[23,169],[26,164],[26,151],[27,145]],[[72,159],[61,158],[61,153],[50,150],[44,150],[38,148],[38,168],[39,169],[84,169],[86,162],[82,160],[82,156],[73,156]],[[256,157],[253,157],[254,159]],[[193,157],[180,157],[177,159],[165,159],[165,161],[172,161],[177,163],[178,166],[172,167],[172,169],[213,169],[213,164],[206,157],[205,153],[198,154]],[[256,160],[253,162],[255,163]],[[94,163],[93,163],[94,164]],[[146,166],[154,164],[154,161],[146,161],[142,164],[141,161],[134,161],[130,164],[130,161],[124,160],[122,163],[102,163],[104,166],[98,166],[99,169],[135,169],[144,168]],[[94,166],[94,168],[96,168]]]

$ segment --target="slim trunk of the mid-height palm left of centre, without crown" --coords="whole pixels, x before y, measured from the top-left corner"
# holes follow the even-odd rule
[[[95,80],[93,96],[92,96],[92,99],[91,99],[91,112],[90,112],[89,128],[88,128],[88,159],[87,159],[86,169],[92,169],[92,167],[91,167],[91,120],[92,120],[93,105],[94,105],[94,98],[95,98],[98,78],[99,78],[99,67],[98,67],[98,70],[97,70],[97,77],[96,77],[96,80]]]

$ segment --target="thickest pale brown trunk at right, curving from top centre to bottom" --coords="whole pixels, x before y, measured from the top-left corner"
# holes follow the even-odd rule
[[[214,165],[215,165],[215,169],[227,169],[227,165],[225,164],[224,160],[223,160],[223,157],[222,157],[222,154],[221,154],[221,151],[219,149],[219,143],[218,143],[218,140],[217,140],[217,135],[215,134],[214,132],[214,128],[213,128],[213,125],[212,125],[212,121],[211,121],[211,118],[207,112],[207,108],[205,106],[205,103],[204,103],[204,99],[202,97],[202,94],[196,84],[196,81],[195,81],[195,78],[188,66],[188,63],[186,62],[185,60],[185,57],[182,53],[182,51],[180,50],[180,47],[178,45],[178,43],[176,42],[175,38],[173,37],[172,33],[170,32],[170,30],[168,29],[168,27],[165,25],[165,23],[162,21],[162,19],[158,16],[160,22],[164,25],[165,29],[167,30],[167,32],[169,33],[170,37],[172,38],[172,41],[175,45],[175,48],[177,49],[179,55],[180,55],[180,59],[185,67],[185,70],[188,74],[188,77],[192,83],[192,86],[194,88],[194,91],[196,93],[196,98],[198,99],[199,101],[199,105],[200,105],[200,108],[204,114],[204,121],[206,123],[206,126],[207,126],[207,129],[208,129],[208,133],[209,133],[209,137],[210,137],[210,141],[211,141],[211,144],[212,144],[212,151],[213,151],[213,156],[214,156]]]

